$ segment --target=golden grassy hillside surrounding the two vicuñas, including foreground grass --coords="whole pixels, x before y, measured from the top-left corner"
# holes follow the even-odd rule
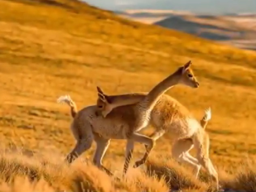
[[[129,174],[136,181],[111,183],[105,173],[83,162],[85,158],[91,161],[94,145],[72,169],[60,163],[75,140],[69,128],[69,109],[56,99],[70,94],[81,109],[96,102],[96,85],[108,94],[147,92],[188,60],[192,60],[201,86],[198,89],[177,86],[167,94],[186,105],[198,119],[205,108],[212,108],[212,120],[207,125],[210,156],[220,173],[223,172],[221,178],[227,186],[245,189],[248,185],[239,181],[255,181],[251,163],[256,158],[254,51],[128,21],[78,1],[1,0],[0,7],[0,139],[1,149],[7,151],[0,157],[3,189],[15,191],[20,187],[19,182],[24,183],[24,188],[32,187],[23,177],[15,181],[18,184],[12,183],[16,188],[8,185],[15,175],[33,179],[40,178],[40,173],[45,178],[41,184],[47,183],[55,191],[59,188],[81,191],[80,184],[84,186],[90,181],[96,182],[87,186],[93,191],[164,191],[170,182],[145,176],[141,168],[130,169]],[[151,128],[143,132],[149,134]],[[29,158],[17,152],[20,147]],[[124,148],[125,141],[111,141],[103,160],[117,175],[122,173]],[[143,145],[136,144],[134,159],[140,158],[144,151]],[[45,153],[50,156],[42,157]],[[153,154],[161,156],[153,158]],[[153,154],[147,167],[162,170],[173,165],[167,160],[171,154],[167,134],[158,140]],[[168,166],[160,166],[168,162]],[[243,170],[239,172],[237,167],[241,162]],[[167,176],[171,174],[168,172],[171,169],[166,170]],[[160,175],[165,174],[160,172]],[[111,182],[98,186],[99,178]],[[202,176],[202,179],[207,183],[207,178]],[[200,187],[192,188],[205,189],[204,183],[197,185]],[[184,188],[189,188],[188,184]]]

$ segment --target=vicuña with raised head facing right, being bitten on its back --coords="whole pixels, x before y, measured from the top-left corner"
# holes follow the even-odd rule
[[[67,156],[68,162],[72,162],[81,151],[90,148],[92,135],[98,134],[102,139],[127,139],[126,161],[124,165],[124,175],[128,169],[128,164],[133,151],[134,141],[147,145],[147,154],[154,147],[154,139],[137,133],[138,130],[147,126],[150,120],[151,110],[156,105],[159,97],[169,88],[176,84],[184,84],[190,87],[198,87],[196,78],[189,68],[191,62],[180,67],[175,73],[158,83],[143,100],[136,104],[115,107],[105,118],[97,114],[97,107],[90,106],[79,111],[73,119],[72,130],[75,130],[77,145]],[[73,132],[74,134],[74,132]],[[94,138],[95,139],[95,138]],[[104,148],[107,144],[100,144]],[[96,149],[97,151],[97,149]],[[104,152],[104,150],[102,150]],[[102,154],[95,154],[100,163]],[[147,159],[147,156],[145,160]]]

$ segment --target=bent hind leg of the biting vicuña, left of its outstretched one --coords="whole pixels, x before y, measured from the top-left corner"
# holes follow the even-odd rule
[[[189,151],[194,147],[191,139],[180,139],[172,145],[172,156],[178,162],[185,162],[194,167],[196,171],[196,178],[200,171],[201,165],[198,160],[189,154]]]

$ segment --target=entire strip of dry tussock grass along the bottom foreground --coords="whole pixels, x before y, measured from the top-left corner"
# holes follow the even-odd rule
[[[58,151],[51,153],[22,154],[1,151],[1,192],[213,192],[211,180],[202,173],[200,181],[191,170],[177,164],[170,156],[156,155],[146,164],[146,170],[133,169],[126,179],[116,180],[100,171],[89,161],[77,160],[70,166],[64,163]],[[220,171],[224,188],[241,191],[256,190],[255,162],[246,162],[232,170]],[[121,167],[117,167],[121,169]]]

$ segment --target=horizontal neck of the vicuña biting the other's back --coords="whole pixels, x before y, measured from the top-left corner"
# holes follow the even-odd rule
[[[140,102],[145,98],[147,94],[143,93],[133,93],[133,94],[120,94],[120,95],[111,95],[107,96],[111,105],[115,107],[121,105],[131,105]]]

